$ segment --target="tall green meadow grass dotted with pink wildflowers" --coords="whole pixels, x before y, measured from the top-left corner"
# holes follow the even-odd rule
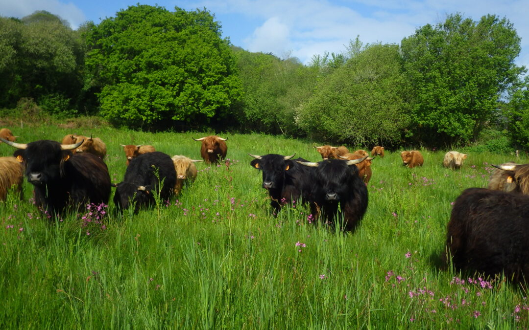
[[[200,159],[207,133],[25,127],[17,142],[101,137],[113,182],[125,172],[120,144],[151,144]],[[0,328],[515,328],[527,327],[521,286],[439,270],[451,203],[484,187],[489,164],[514,156],[470,154],[460,171],[444,152],[423,167],[400,154],[373,161],[369,206],[354,233],[307,222],[305,205],[271,214],[247,153],[319,161],[307,140],[228,137],[229,160],[197,163],[197,180],[169,202],[103,223],[90,210],[46,219],[10,195],[0,202]],[[320,143],[320,142],[318,142]],[[460,150],[464,152],[464,150]],[[13,149],[0,145],[0,156]],[[517,160],[526,163],[526,159]],[[94,213],[94,210],[92,210]],[[97,213],[97,212],[95,212]],[[90,220],[90,221],[88,221]],[[506,221],[508,221],[506,219]]]

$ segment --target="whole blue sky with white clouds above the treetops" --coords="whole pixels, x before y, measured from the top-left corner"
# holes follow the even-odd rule
[[[206,8],[222,24],[223,36],[252,52],[296,56],[308,63],[314,54],[340,53],[357,35],[364,43],[400,43],[425,24],[443,22],[460,12],[478,21],[482,15],[507,17],[522,37],[518,65],[529,68],[529,1],[527,0],[0,0],[0,15],[23,17],[49,11],[76,29],[101,22],[136,3],[172,10]]]

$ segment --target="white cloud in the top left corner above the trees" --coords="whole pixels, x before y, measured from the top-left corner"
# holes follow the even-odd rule
[[[73,3],[62,3],[58,0],[0,0],[0,15],[5,17],[22,18],[42,10],[67,20],[72,29],[77,29],[86,21],[85,14]]]

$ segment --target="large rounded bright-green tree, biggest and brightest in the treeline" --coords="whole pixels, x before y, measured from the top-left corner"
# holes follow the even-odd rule
[[[118,125],[229,117],[241,87],[220,29],[206,10],[130,6],[89,29],[86,89]]]

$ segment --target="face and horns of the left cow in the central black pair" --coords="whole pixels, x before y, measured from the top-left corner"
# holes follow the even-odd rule
[[[250,165],[262,171],[262,187],[265,189],[282,188],[285,181],[285,173],[290,169],[291,166],[293,166],[290,161],[290,158],[294,157],[294,155],[249,155],[256,158],[250,162]]]

